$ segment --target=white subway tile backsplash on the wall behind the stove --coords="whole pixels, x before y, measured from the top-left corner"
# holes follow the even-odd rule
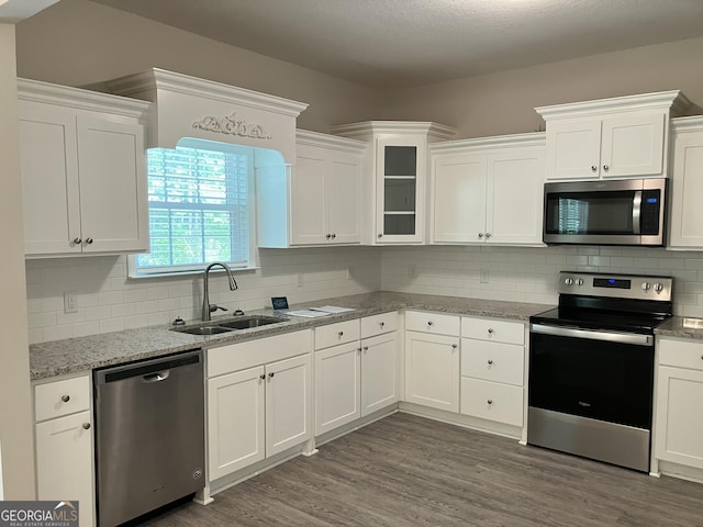
[[[481,271],[488,283],[481,283]],[[643,247],[384,248],[381,288],[409,293],[557,303],[561,270],[670,276],[674,314],[703,317],[703,253]]]

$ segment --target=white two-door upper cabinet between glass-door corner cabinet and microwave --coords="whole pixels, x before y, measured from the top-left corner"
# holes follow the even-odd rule
[[[540,245],[544,145],[540,133],[432,145],[432,243]]]

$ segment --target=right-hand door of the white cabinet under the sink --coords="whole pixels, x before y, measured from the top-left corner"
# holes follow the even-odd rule
[[[266,456],[312,437],[310,355],[266,367]]]

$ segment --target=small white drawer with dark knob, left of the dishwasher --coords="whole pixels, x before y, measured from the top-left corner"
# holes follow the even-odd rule
[[[34,418],[45,421],[90,408],[88,375],[34,386]]]

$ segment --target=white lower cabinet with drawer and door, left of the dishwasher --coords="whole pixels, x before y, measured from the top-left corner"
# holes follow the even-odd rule
[[[78,502],[85,527],[94,525],[90,399],[88,375],[34,386],[37,498]]]

